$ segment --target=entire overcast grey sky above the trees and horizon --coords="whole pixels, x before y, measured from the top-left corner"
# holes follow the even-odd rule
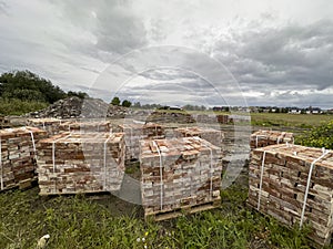
[[[331,0],[0,0],[0,73],[110,101],[333,107]]]

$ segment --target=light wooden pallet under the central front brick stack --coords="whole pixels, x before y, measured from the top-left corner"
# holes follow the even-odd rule
[[[180,216],[190,215],[199,211],[206,211],[213,208],[218,208],[221,205],[221,199],[215,199],[209,203],[204,204],[198,204],[198,205],[188,205],[183,206],[181,208],[176,208],[173,210],[165,210],[165,211],[158,211],[158,212],[151,212],[151,214],[144,214],[145,220],[167,220],[167,219],[173,219]]]

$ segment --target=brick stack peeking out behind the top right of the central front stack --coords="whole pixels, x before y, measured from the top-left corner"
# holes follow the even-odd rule
[[[222,141],[224,136],[224,134],[221,131],[201,127],[175,128],[174,135],[175,137],[199,136],[200,138],[205,139],[218,147],[222,146]]]

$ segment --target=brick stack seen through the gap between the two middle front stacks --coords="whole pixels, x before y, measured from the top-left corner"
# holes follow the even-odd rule
[[[118,127],[119,132],[124,133],[125,139],[125,159],[139,159],[139,141],[141,139],[159,139],[164,138],[164,127],[155,123],[147,124],[122,124]]]

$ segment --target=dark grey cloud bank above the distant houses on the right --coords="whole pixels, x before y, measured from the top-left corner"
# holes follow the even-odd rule
[[[324,90],[333,85],[333,22],[232,31],[213,54],[241,84]]]

